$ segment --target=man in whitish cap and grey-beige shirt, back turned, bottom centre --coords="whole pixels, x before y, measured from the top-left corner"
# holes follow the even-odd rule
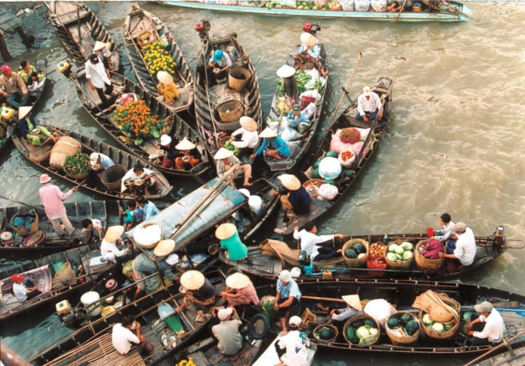
[[[221,321],[211,327],[211,332],[216,337],[217,348],[224,355],[235,355],[242,348],[242,335],[239,327],[242,325],[237,311],[232,307],[217,311],[217,318]]]

